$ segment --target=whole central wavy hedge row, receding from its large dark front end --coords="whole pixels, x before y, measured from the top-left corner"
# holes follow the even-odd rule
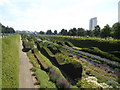
[[[41,45],[43,43],[40,43]],[[51,43],[52,44],[52,43]],[[81,63],[74,59],[73,57],[69,57],[68,55],[64,55],[66,51],[64,52],[62,48],[57,48],[57,50],[63,51],[63,54],[60,52],[57,52],[55,55],[52,54],[52,52],[49,50],[49,48],[53,47],[53,45],[48,44],[46,46],[41,47],[42,53],[49,58],[51,62],[54,62],[55,65],[57,65],[59,68],[61,68],[67,75],[71,76],[71,78],[81,78],[82,77],[82,65]],[[47,48],[49,47],[49,48]],[[55,46],[54,46],[55,47]],[[57,62],[56,62],[57,61]],[[70,70],[68,70],[70,69]],[[71,71],[72,70],[72,71]]]

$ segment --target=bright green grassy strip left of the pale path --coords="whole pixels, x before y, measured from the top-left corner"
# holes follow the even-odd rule
[[[19,35],[2,38],[2,88],[19,87]]]

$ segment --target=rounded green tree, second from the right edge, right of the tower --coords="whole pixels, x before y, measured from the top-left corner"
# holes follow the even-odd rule
[[[106,26],[104,26],[104,28],[100,31],[100,36],[102,38],[106,38],[110,36],[110,32],[111,32],[111,28],[110,26],[107,24]]]

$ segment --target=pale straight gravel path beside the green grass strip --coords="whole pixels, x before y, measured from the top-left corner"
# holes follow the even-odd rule
[[[22,51],[22,40],[20,38],[20,49],[19,49],[19,88],[35,88],[33,79],[30,72],[30,62],[25,52]]]

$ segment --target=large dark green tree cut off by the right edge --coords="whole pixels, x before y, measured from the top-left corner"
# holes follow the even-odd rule
[[[112,26],[113,37],[116,39],[120,39],[120,23],[117,22]]]

